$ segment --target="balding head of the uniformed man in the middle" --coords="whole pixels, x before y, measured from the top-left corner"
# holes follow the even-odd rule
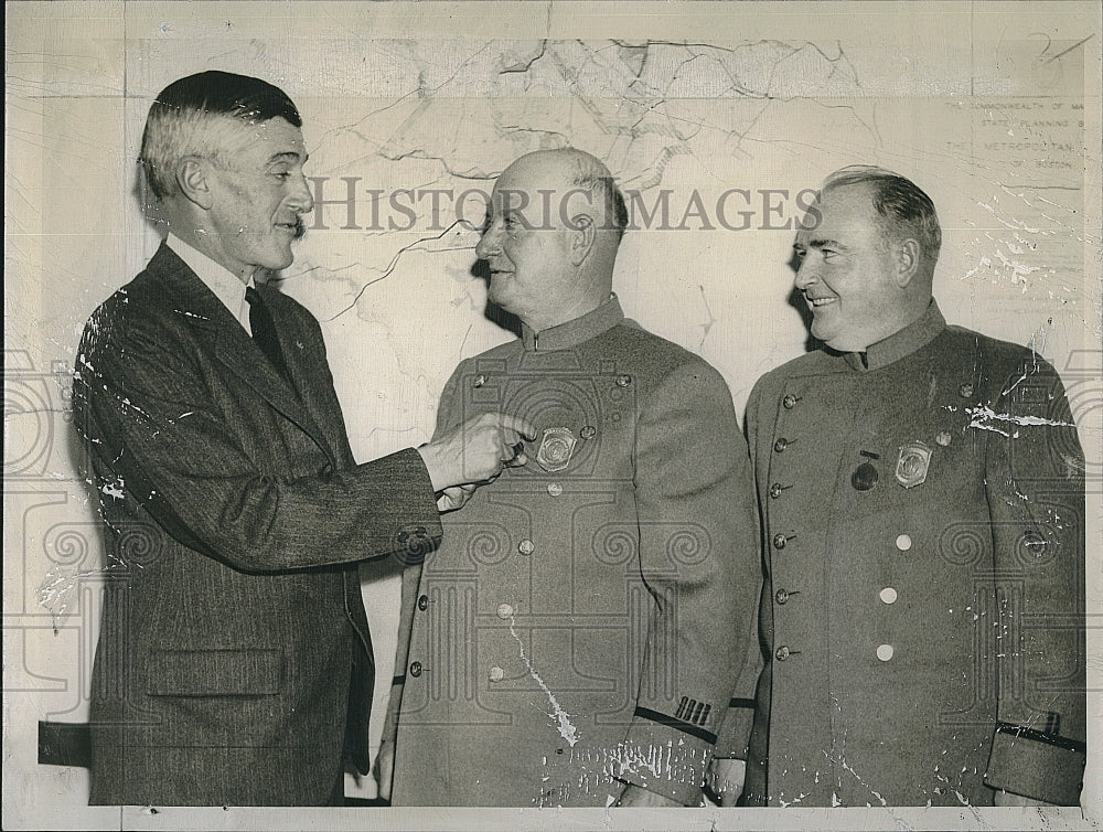
[[[586,314],[609,297],[627,224],[600,160],[574,148],[521,157],[494,184],[475,249],[490,299],[536,331]]]

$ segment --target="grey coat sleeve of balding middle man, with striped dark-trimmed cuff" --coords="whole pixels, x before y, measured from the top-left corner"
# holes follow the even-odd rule
[[[675,369],[640,406],[640,569],[657,607],[619,777],[696,804],[759,590],[747,446],[724,380]],[[614,771],[614,774],[618,774]]]

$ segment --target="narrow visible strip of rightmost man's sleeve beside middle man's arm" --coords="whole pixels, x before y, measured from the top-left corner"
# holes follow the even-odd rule
[[[751,480],[758,483],[758,472],[756,469],[756,456],[758,452],[758,422],[759,405],[762,401],[762,384],[756,384],[751,390],[750,398],[747,401],[747,445],[750,450],[750,472]],[[756,499],[756,506],[758,500]],[[764,552],[761,545],[762,519],[758,508],[754,511],[756,540],[754,545],[758,552]],[[759,572],[757,579],[762,586],[762,572],[764,570],[764,555],[760,556]],[[758,599],[762,604],[762,599]],[[736,690],[731,694],[728,710],[724,715],[724,722],[717,732],[716,753],[714,756],[724,758],[736,758],[746,760],[748,745],[750,743],[751,725],[754,719],[754,693],[758,686],[759,676],[764,664],[762,650],[759,644],[759,609],[756,606],[748,623],[748,632],[745,637],[747,654],[741,662],[739,676],[736,679]],[[769,610],[769,607],[767,607]]]

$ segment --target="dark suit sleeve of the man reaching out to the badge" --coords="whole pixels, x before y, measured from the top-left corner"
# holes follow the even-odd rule
[[[320,332],[313,334],[324,361]],[[235,433],[214,401],[183,338],[111,306],[85,330],[74,412],[100,470],[118,478],[125,499],[138,500],[184,545],[243,572],[424,551],[440,536],[417,451],[295,479],[266,472],[243,447],[246,428]],[[280,441],[257,437],[265,440]]]

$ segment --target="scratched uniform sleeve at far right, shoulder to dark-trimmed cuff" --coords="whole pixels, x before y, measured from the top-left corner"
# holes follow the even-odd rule
[[[1002,637],[985,782],[1075,806],[1086,759],[1083,450],[1060,378],[1036,356],[990,407],[986,488]]]

